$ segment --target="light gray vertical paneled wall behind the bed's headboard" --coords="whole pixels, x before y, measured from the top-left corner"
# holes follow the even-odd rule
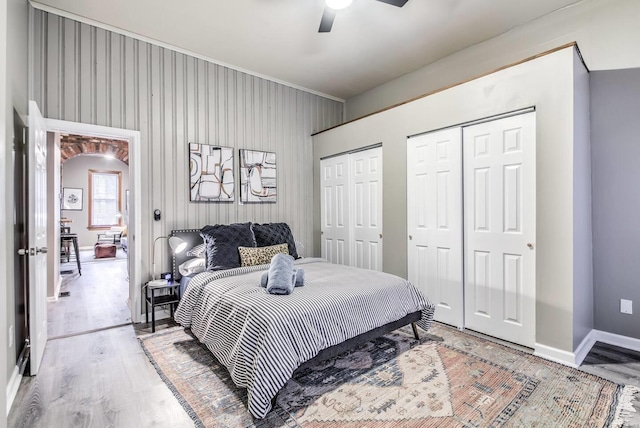
[[[141,132],[143,275],[153,237],[206,224],[284,221],[312,255],[311,134],[343,103],[39,10],[34,40],[45,117]],[[234,148],[235,203],[189,202],[190,142]],[[277,203],[238,203],[240,148],[276,153]]]

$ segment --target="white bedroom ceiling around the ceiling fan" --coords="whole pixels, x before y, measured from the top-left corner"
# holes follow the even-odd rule
[[[215,62],[347,99],[577,0],[39,0]],[[35,4],[38,7],[38,4]]]

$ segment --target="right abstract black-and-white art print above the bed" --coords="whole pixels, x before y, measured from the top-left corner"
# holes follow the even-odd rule
[[[276,154],[240,149],[240,201],[276,202]]]

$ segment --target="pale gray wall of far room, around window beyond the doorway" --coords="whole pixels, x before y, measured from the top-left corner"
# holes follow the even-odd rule
[[[62,210],[62,216],[72,220],[71,231],[78,234],[78,245],[93,247],[98,237],[98,230],[89,230],[89,169],[100,171],[122,172],[120,187],[122,198],[122,225],[124,226],[124,198],[125,190],[129,188],[129,166],[117,159],[103,156],[76,156],[62,164],[62,187],[82,189],[82,211]]]

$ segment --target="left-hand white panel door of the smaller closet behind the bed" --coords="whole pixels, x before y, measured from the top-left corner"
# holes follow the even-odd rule
[[[322,257],[331,263],[350,264],[349,157],[320,161]]]

